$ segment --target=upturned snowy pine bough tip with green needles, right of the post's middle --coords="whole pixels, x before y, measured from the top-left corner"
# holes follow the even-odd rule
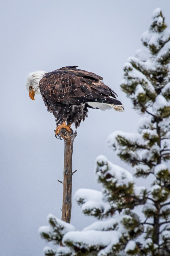
[[[112,164],[105,156],[96,159],[96,175],[98,182],[103,184],[106,200],[117,205],[117,209],[134,205],[145,201],[145,187],[134,185],[134,179],[129,171]]]

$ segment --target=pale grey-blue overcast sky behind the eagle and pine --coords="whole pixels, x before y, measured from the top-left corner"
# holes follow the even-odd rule
[[[77,65],[99,74],[119,95],[126,111],[91,109],[77,129],[73,152],[73,194],[100,189],[94,163],[104,154],[131,170],[109,148],[115,130],[136,131],[139,116],[121,92],[123,64],[141,47],[153,10],[160,7],[170,27],[169,0],[2,0],[0,2],[0,256],[42,256],[38,228],[49,213],[61,218],[63,141],[41,95],[29,99],[31,71]],[[75,129],[74,129],[75,130]],[[81,230],[93,222],[73,201],[71,223]]]

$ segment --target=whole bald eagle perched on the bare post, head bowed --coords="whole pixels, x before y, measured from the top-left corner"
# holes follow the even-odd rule
[[[56,118],[56,135],[62,128],[72,133],[71,124],[80,126],[88,108],[124,111],[117,94],[102,82],[101,76],[76,67],[61,67],[49,73],[37,71],[27,79],[29,97],[34,100],[35,94],[41,93],[45,106]]]

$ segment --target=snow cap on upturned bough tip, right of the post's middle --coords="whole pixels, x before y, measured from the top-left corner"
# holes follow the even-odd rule
[[[100,177],[109,177],[107,181],[111,181],[112,183],[116,183],[116,187],[126,185],[129,183],[133,183],[133,176],[129,171],[126,171],[124,168],[112,164],[107,160],[104,156],[98,156],[96,159],[97,163],[97,176]]]

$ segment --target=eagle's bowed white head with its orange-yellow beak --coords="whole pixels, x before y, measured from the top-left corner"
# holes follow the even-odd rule
[[[26,82],[26,89],[27,91],[29,91],[30,99],[35,100],[34,99],[35,94],[40,94],[39,81],[45,74],[47,74],[47,72],[44,72],[44,71],[36,71],[36,72],[29,73],[28,79]]]

